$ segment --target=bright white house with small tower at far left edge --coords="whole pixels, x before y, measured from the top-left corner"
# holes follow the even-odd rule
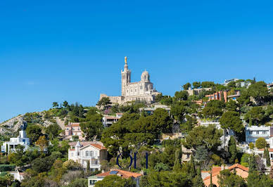
[[[10,153],[14,152],[18,145],[24,146],[24,150],[30,146],[30,138],[27,138],[27,134],[25,131],[19,131],[19,136],[17,138],[10,138],[10,141],[6,141],[1,146],[2,153]]]

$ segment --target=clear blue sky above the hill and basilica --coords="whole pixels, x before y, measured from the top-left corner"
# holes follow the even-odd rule
[[[95,105],[148,70],[158,91],[272,82],[272,1],[0,1],[0,122],[53,101]]]

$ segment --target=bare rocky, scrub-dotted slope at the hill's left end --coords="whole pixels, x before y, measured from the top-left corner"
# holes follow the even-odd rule
[[[42,127],[49,127],[50,124],[58,124],[61,129],[64,129],[65,119],[61,120],[59,117],[49,117],[46,112],[32,112],[24,115],[18,115],[10,120],[0,124],[0,135],[15,134],[20,127],[24,127],[27,124],[39,124]]]

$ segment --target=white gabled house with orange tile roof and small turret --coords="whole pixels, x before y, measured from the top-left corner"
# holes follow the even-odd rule
[[[90,169],[101,170],[101,160],[107,159],[107,149],[100,142],[80,143],[77,141],[75,148],[68,150],[68,160],[79,162],[83,168],[87,168],[89,162]]]

